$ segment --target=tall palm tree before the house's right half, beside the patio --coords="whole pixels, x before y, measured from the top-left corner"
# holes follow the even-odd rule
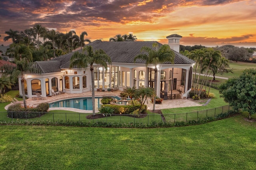
[[[155,104],[156,104],[156,89],[157,89],[157,71],[158,71],[158,64],[164,63],[166,61],[171,62],[174,64],[174,52],[170,49],[170,46],[167,44],[161,45],[159,43],[153,43],[152,48],[144,46],[141,47],[140,51],[142,54],[136,55],[134,57],[134,63],[137,59],[142,59],[146,61],[146,67],[148,64],[154,65],[155,77],[154,77],[154,101],[153,101],[153,111],[155,111]]]

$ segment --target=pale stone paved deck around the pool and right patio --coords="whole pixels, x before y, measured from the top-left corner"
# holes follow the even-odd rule
[[[103,97],[103,96],[119,96],[121,91],[95,91],[95,97]],[[76,93],[76,94],[70,94],[70,93],[63,93],[56,96],[46,97],[46,99],[42,100],[39,98],[36,98],[36,100],[32,100],[32,98],[29,98],[26,100],[27,105],[30,107],[34,107],[40,103],[53,103],[56,101],[64,100],[64,99],[72,99],[77,97],[92,97],[92,92],[88,91],[85,93]],[[23,104],[23,101],[19,101],[17,103]],[[150,100],[145,103],[148,105],[149,110],[152,110],[153,104]],[[12,105],[12,104],[10,104]],[[7,105],[5,109],[7,109],[10,105]],[[177,107],[192,107],[192,106],[201,106],[198,103],[195,103],[194,101],[190,99],[175,99],[175,100],[163,100],[162,104],[156,104],[155,109],[170,109],[170,108],[177,108]],[[74,109],[74,108],[68,108],[68,107],[54,107],[50,108],[49,111],[52,110],[66,110],[66,111],[74,111],[74,112],[80,112],[80,113],[92,113],[92,111],[87,110],[80,110],[80,109]],[[98,110],[96,110],[96,113]]]

